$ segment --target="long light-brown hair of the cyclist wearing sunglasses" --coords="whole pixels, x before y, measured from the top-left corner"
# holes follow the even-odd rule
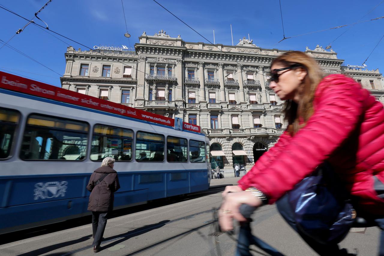
[[[299,51],[286,52],[272,61],[272,65],[281,64],[291,66],[300,64],[307,74],[298,88],[299,100],[287,100],[285,103],[285,120],[288,121],[288,132],[293,136],[306,125],[308,119],[313,115],[313,100],[316,88],[323,78],[323,73],[312,57]],[[300,124],[301,123],[301,124]]]

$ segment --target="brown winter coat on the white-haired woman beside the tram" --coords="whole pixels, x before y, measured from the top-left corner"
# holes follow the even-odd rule
[[[109,173],[98,185],[95,182]],[[101,166],[94,170],[89,179],[87,190],[89,196],[88,211],[106,212],[113,209],[113,193],[120,188],[118,174],[109,166]]]

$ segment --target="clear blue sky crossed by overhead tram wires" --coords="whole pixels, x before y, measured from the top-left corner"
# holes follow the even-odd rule
[[[0,0],[0,6],[9,8],[23,17],[33,18],[36,23],[44,25],[33,16],[46,2],[47,0]],[[270,48],[283,38],[278,0],[195,0],[192,2],[158,0],[157,2],[211,42],[213,42],[212,30],[214,29],[216,43],[232,45],[230,24],[232,24],[234,44],[237,44],[240,38],[248,38],[248,33],[250,39],[253,39],[253,43],[262,48]],[[383,0],[335,0],[331,2],[281,0],[285,36],[290,37],[351,24],[359,20],[382,17],[384,16],[383,2]],[[129,46],[130,44],[133,47],[143,31],[146,31],[148,35],[153,35],[161,29],[171,37],[177,37],[180,34],[181,38],[187,42],[209,43],[153,0],[123,0],[123,3],[128,31],[131,34],[129,41],[124,37],[126,27],[121,0],[53,0],[38,17],[48,23],[51,30],[89,47],[100,44],[116,46]],[[367,14],[379,3],[381,4]],[[364,15],[366,16],[363,17]],[[0,9],[0,39],[7,42],[26,23],[22,18]],[[304,51],[306,46],[314,49],[319,44],[325,48],[326,45],[332,43],[333,50],[338,53],[339,59],[345,60],[345,64],[361,65],[383,37],[383,28],[384,18],[359,23],[352,27],[290,38],[273,48]],[[346,33],[335,40],[345,31]],[[7,46],[0,49],[0,70],[7,70],[60,86],[60,75],[58,74],[64,73],[64,53],[68,45],[76,49],[86,50],[86,48],[65,38],[59,38],[64,42],[53,37],[46,30],[30,24],[9,42],[12,47],[57,73]],[[384,39],[367,60],[367,68],[369,70],[379,68],[381,73],[384,72],[383,58]]]

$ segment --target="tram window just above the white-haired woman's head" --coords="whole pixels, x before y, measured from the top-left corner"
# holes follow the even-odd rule
[[[132,138],[132,130],[95,125],[93,128],[91,160],[101,161],[110,156],[115,161],[131,161]]]

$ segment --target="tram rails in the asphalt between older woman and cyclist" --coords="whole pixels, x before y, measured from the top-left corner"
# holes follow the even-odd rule
[[[212,213],[213,211],[216,211],[217,209],[218,209],[218,207],[217,207],[217,208],[210,209],[210,210],[206,210],[206,211],[201,211],[201,212],[199,212],[199,213],[189,214],[189,215],[186,215],[186,216],[177,218],[177,219],[173,219],[173,220],[168,221],[168,222],[165,223],[165,224],[163,223],[163,224],[152,225],[151,227],[146,228],[146,229],[141,229],[141,230],[139,230],[139,231],[135,231],[135,232],[132,232],[132,233],[127,233],[127,234],[122,235],[122,236],[118,236],[118,237],[115,237],[115,238],[112,238],[112,239],[108,239],[108,240],[102,241],[101,244],[106,244],[106,243],[110,243],[110,242],[113,242],[113,241],[117,241],[117,240],[119,240],[119,239],[123,239],[123,238],[127,238],[127,237],[132,237],[132,236],[134,236],[135,234],[140,234],[140,233],[143,233],[143,232],[145,232],[145,231],[150,231],[150,230],[155,229],[155,228],[160,228],[160,227],[165,226],[165,225],[167,225],[167,224],[175,223],[175,222],[177,222],[177,221],[181,221],[181,220],[185,220],[185,219],[190,219],[190,218],[193,218],[193,217],[198,216],[198,215],[200,215],[200,214],[204,214],[204,213]],[[171,241],[171,240],[173,240],[173,239],[175,239],[175,238],[178,238],[178,237],[180,237],[180,236],[183,236],[183,235],[185,235],[185,234],[192,233],[192,232],[194,232],[194,231],[196,231],[196,230],[198,230],[198,229],[200,229],[200,228],[204,228],[204,227],[206,227],[206,226],[209,226],[209,225],[211,225],[211,224],[213,224],[213,223],[215,223],[215,222],[216,222],[215,220],[210,219],[209,222],[207,221],[207,223],[205,223],[205,224],[203,224],[203,225],[200,225],[200,226],[198,226],[198,227],[189,229],[189,230],[187,230],[187,231],[185,231],[185,232],[176,234],[176,235],[174,235],[174,236],[172,236],[172,237],[170,237],[170,238],[163,239],[163,240],[158,241],[158,242],[156,242],[156,243],[152,243],[152,244],[149,245],[149,246],[146,246],[146,247],[144,247],[144,248],[138,249],[138,250],[136,250],[136,251],[134,251],[134,252],[131,252],[131,253],[127,254],[127,255],[136,255],[136,254],[139,254],[139,253],[141,253],[141,252],[143,252],[143,251],[147,251],[148,249],[154,248],[154,247],[156,247],[156,246],[158,246],[158,245],[160,245],[160,244],[166,243],[166,242],[168,242],[168,241]],[[73,251],[66,252],[65,254],[61,254],[61,256],[72,255],[72,254],[74,254],[74,253],[78,253],[78,252],[80,252],[80,251],[84,251],[84,250],[89,249],[89,248],[92,248],[92,247],[93,247],[92,245],[84,246],[84,247],[82,247],[82,248],[79,248],[79,249],[75,249],[75,250],[73,250]]]

